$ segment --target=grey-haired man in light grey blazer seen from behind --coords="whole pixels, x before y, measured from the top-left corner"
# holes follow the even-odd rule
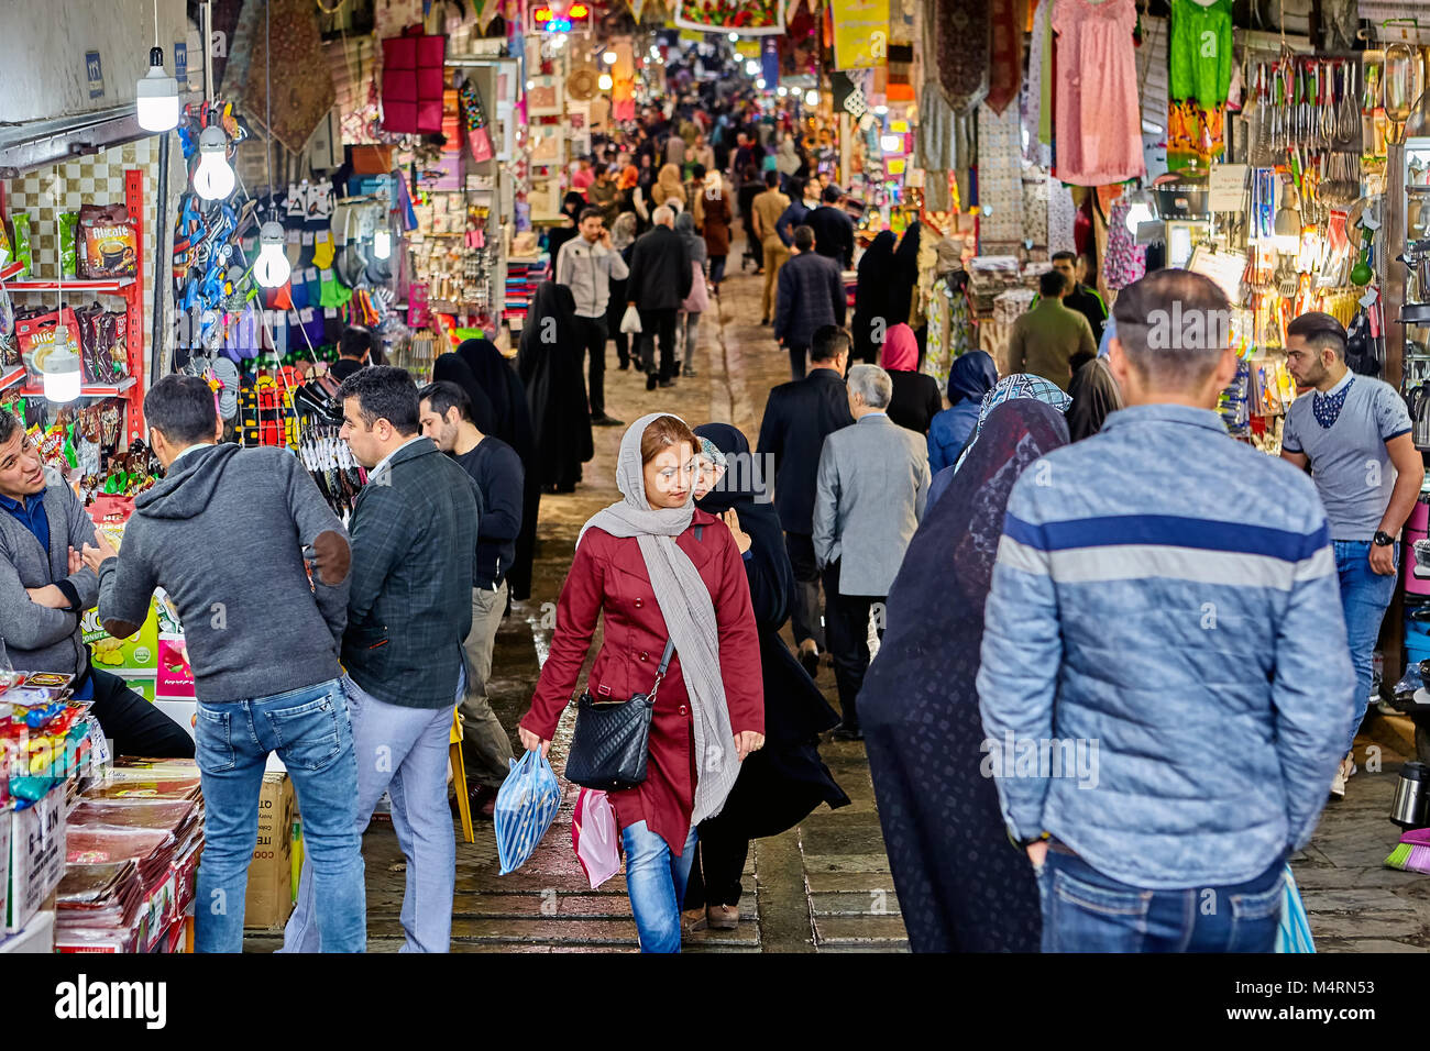
[[[884,638],[884,599],[894,583],[928,499],[928,446],[895,425],[885,409],[889,375],[874,365],[849,369],[854,426],[832,432],[819,453],[814,500],[814,553],[824,571],[829,652],[844,722],[835,736],[864,736],[855,698],[869,668],[869,612]]]

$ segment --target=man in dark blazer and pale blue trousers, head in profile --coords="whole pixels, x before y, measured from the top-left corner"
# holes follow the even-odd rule
[[[418,388],[376,365],[343,383],[342,438],[368,468],[353,503],[352,589],[343,689],[358,754],[358,825],[382,794],[408,859],[402,929],[409,952],[452,942],[456,841],[446,806],[448,735],[465,694],[462,641],[472,629],[476,486],[418,433]],[[285,952],[320,945],[305,858]]]

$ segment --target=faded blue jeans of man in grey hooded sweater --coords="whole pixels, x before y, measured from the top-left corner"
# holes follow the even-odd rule
[[[323,948],[362,952],[368,945],[368,899],[362,835],[353,827],[358,762],[337,679],[252,701],[200,701],[194,736],[206,806],[194,951],[243,951],[243,901],[257,839],[255,815],[267,754],[277,752],[303,815],[305,868],[312,865],[319,888],[316,919]]]

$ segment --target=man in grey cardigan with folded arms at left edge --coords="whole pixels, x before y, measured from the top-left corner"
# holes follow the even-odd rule
[[[124,685],[93,668],[80,621],[99,596],[99,581],[80,552],[94,543],[94,523],[74,490],[44,469],[24,425],[0,410],[0,641],[10,663],[27,672],[73,675],[74,696],[116,755],[192,758],[183,726]]]

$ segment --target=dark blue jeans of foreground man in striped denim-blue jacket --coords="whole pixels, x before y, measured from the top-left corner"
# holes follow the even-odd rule
[[[1284,888],[1271,868],[1233,887],[1147,891],[1048,851],[1038,871],[1044,952],[1271,952]]]

